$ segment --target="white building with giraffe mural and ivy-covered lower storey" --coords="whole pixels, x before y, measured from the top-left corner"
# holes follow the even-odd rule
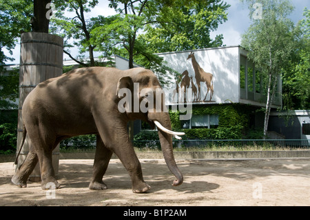
[[[261,71],[247,59],[247,51],[240,46],[225,46],[158,56],[172,70],[162,77],[167,77],[163,89],[174,130],[185,131],[185,139],[258,139],[255,132],[249,131],[263,126],[264,112],[260,109],[266,104],[267,83]],[[127,59],[115,56],[114,62],[118,69],[128,68]],[[63,66],[79,65],[64,61]],[[10,71],[18,65],[6,68]],[[271,106],[273,112],[281,108],[281,97],[279,79]],[[190,117],[182,118],[188,112]],[[302,113],[306,119],[291,119],[296,121],[295,127],[279,122],[279,115],[271,113],[269,130],[286,139],[310,139],[309,111],[306,112],[307,115]],[[135,121],[134,134],[143,130],[149,130],[147,123]]]

